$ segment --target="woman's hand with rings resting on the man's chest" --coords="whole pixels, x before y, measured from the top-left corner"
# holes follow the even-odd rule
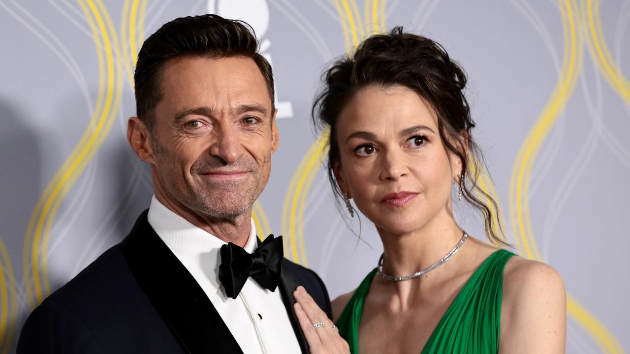
[[[295,315],[304,331],[306,341],[309,343],[309,351],[312,354],[350,353],[348,343],[341,338],[333,321],[330,321],[324,311],[321,311],[304,287],[297,287],[297,290],[293,292],[293,297],[297,301],[293,305]]]

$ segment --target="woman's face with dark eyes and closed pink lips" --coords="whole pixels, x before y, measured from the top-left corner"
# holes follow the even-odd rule
[[[415,91],[364,88],[343,108],[336,129],[341,191],[378,229],[404,234],[452,215],[450,192],[461,163],[449,159],[437,116]]]

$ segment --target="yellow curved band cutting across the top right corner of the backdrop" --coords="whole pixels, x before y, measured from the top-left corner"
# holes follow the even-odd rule
[[[588,0],[586,3],[582,1],[582,6],[583,8],[587,8],[586,11],[583,9],[583,13],[586,13],[583,16],[586,16],[584,21],[588,23],[586,30],[587,43],[593,60],[597,64],[600,72],[602,72],[602,76],[604,76],[606,81],[610,84],[610,87],[617,91],[617,94],[619,94],[627,104],[630,104],[630,83],[628,83],[621,69],[615,64],[612,55],[610,55],[610,50],[604,37],[604,30],[602,30],[599,2],[595,1],[595,14],[593,14],[592,0]]]

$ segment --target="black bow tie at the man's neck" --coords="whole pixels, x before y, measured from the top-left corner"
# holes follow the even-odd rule
[[[282,236],[274,239],[269,235],[252,254],[233,243],[221,246],[219,280],[226,295],[236,299],[248,277],[254,278],[261,287],[274,291],[280,282],[283,256]]]

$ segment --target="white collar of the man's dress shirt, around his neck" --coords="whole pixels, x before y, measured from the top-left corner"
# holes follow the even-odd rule
[[[203,290],[209,296],[214,295],[221,287],[221,282],[219,282],[219,265],[221,265],[219,249],[227,243],[194,226],[160,203],[155,195],[151,198],[147,219],[157,236],[171,249],[171,252],[195,277],[195,280],[204,287]],[[244,247],[248,253],[255,251],[258,246],[254,220],[250,219],[250,223],[249,238]],[[198,277],[204,279],[198,279]]]

